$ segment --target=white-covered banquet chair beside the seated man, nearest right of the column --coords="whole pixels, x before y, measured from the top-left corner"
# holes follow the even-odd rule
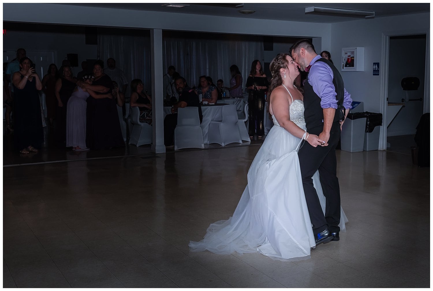
[[[174,129],[174,150],[185,148],[204,149],[198,107],[178,108],[178,125]]]

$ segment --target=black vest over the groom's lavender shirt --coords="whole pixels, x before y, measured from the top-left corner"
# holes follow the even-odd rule
[[[343,107],[343,78],[341,78],[341,74],[337,70],[337,68],[326,58],[320,58],[317,61],[323,61],[324,63],[326,63],[326,65],[329,65],[334,73],[332,83],[334,84],[335,92],[337,93],[336,99],[338,100],[338,108],[334,116],[334,122],[344,120],[344,113],[342,111],[345,110]],[[314,63],[316,63],[316,61]],[[323,109],[320,106],[320,101],[320,97],[317,96],[317,94],[313,91],[313,86],[308,83],[307,75],[307,79],[304,82],[304,117],[305,123],[307,125],[307,131],[317,126],[323,126]]]

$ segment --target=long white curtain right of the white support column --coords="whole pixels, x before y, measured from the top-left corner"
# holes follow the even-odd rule
[[[203,36],[197,37],[198,34]],[[214,84],[222,79],[224,86],[230,87],[229,68],[237,65],[245,92],[252,61],[258,59],[263,65],[263,39],[260,36],[165,32],[162,42],[164,70],[173,65],[190,87],[199,86],[201,75],[210,76]]]

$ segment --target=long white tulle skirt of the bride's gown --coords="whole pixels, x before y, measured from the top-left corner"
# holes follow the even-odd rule
[[[204,239],[189,243],[191,252],[260,252],[276,260],[308,259],[316,243],[297,157],[300,145],[301,139],[273,126],[249,168],[248,184],[233,216],[212,223]],[[324,210],[318,172],[313,182]],[[345,231],[347,218],[341,212],[340,231]]]

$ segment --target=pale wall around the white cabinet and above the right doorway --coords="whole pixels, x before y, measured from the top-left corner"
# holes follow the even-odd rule
[[[346,90],[352,94],[352,99],[364,102],[364,110],[380,112],[381,76],[373,76],[373,62],[382,64],[382,34],[428,31],[430,29],[430,13],[420,13],[405,16],[362,19],[345,23],[332,24],[330,53],[334,63],[341,58],[341,48],[362,46],[365,48],[365,71],[342,72]],[[324,48],[327,46],[324,45]],[[401,56],[401,61],[411,63],[411,55],[417,54],[414,49]],[[380,74],[385,68],[381,66]],[[383,84],[386,86],[386,84]]]

